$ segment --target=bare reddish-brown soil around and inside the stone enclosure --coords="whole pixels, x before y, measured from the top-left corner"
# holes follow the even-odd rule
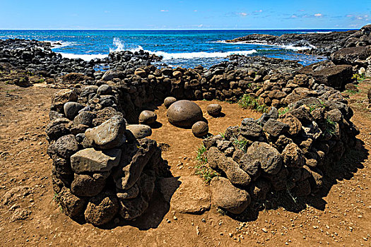
[[[371,140],[371,112],[366,109],[370,81],[351,96],[353,122],[360,128],[360,149],[353,159],[367,156]],[[134,224],[98,229],[66,217],[53,201],[49,179],[51,159],[46,154],[45,126],[52,94],[46,85],[19,88],[0,84],[0,246],[371,246],[370,159],[362,169],[351,171],[331,187],[323,208],[307,206],[299,212],[282,207],[264,210],[250,222],[237,222],[220,215],[214,207],[204,215],[186,215],[160,208],[148,212],[158,224]],[[204,112],[210,102],[200,101]],[[247,116],[260,114],[219,102],[225,116],[213,119],[205,114],[210,132],[225,131]],[[163,153],[174,176],[194,174],[194,157],[201,139],[191,130],[171,126],[165,108],[157,110],[161,128],[152,138],[167,143]],[[353,176],[352,176],[353,174]],[[176,217],[176,219],[174,218]]]

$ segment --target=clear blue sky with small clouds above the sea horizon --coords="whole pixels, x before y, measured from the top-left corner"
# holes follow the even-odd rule
[[[0,29],[361,28],[371,0],[0,0]]]

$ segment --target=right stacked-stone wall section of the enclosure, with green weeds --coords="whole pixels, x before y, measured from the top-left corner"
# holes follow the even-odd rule
[[[271,107],[260,119],[243,119],[224,136],[206,138],[208,165],[222,174],[211,181],[213,204],[240,214],[269,192],[320,191],[326,171],[355,146],[359,133],[347,104],[324,95],[293,102],[281,115]]]

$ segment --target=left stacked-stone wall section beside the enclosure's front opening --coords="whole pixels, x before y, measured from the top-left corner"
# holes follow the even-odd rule
[[[60,90],[47,126],[52,184],[63,212],[78,221],[132,220],[147,209],[155,179],[168,174],[154,140],[136,139],[110,85]]]

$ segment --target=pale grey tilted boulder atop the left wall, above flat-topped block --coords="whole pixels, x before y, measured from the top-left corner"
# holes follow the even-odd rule
[[[88,128],[85,137],[93,145],[100,149],[111,149],[121,146],[126,138],[124,131],[126,121],[122,116],[113,116],[95,128]]]

